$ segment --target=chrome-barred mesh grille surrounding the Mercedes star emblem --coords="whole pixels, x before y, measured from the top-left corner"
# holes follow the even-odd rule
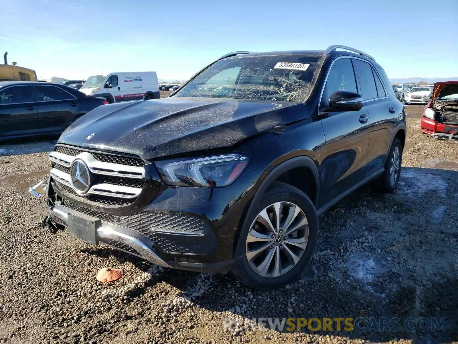
[[[71,187],[70,166],[76,156],[86,163],[93,181],[83,196]],[[49,154],[49,160],[51,177],[57,186],[82,201],[112,206],[128,205],[135,202],[145,183],[144,162],[140,158],[56,146]]]

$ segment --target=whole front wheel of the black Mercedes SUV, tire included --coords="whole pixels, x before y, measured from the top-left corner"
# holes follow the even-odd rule
[[[273,214],[278,209],[281,214],[280,229],[276,225],[274,230],[268,229],[269,226],[261,215],[275,219]],[[288,220],[289,226],[282,228]],[[295,229],[292,232],[284,236],[293,228]],[[284,233],[283,229],[286,229]],[[253,231],[257,237],[252,235]],[[262,240],[258,240],[260,237]],[[240,259],[232,274],[241,283],[255,289],[276,289],[291,283],[300,277],[300,273],[310,261],[317,237],[318,218],[310,198],[292,185],[274,182],[256,206],[256,210],[244,221],[235,250],[236,257]],[[294,239],[295,244],[291,244]],[[256,252],[259,254],[255,254]],[[294,254],[295,258],[289,252]],[[280,262],[278,266],[281,266],[278,269],[277,258]]]

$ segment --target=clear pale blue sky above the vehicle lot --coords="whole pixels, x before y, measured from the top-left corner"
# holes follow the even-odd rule
[[[374,56],[390,78],[458,76],[458,1],[14,0],[0,11],[0,56],[38,78],[156,71],[191,77],[234,50]],[[440,5],[439,5],[440,4]]]

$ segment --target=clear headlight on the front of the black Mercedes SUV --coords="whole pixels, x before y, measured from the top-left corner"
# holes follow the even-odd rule
[[[156,161],[155,164],[168,185],[217,187],[234,182],[248,165],[248,156],[215,155],[192,160]]]

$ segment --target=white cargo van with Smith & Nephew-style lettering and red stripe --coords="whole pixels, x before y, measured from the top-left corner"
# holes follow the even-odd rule
[[[156,72],[119,72],[94,75],[87,78],[80,92],[104,97],[109,103],[160,98]]]

